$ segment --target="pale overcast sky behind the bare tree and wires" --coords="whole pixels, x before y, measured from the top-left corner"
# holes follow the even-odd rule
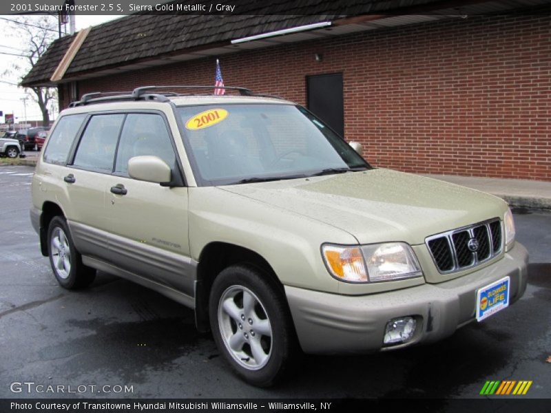
[[[13,16],[0,16],[3,19],[13,19]],[[113,19],[118,19],[121,16],[76,16],[76,30],[81,30],[82,28],[87,28],[90,25],[98,25],[105,21],[110,21]],[[53,17],[52,17],[53,19]],[[25,47],[24,43],[17,39],[17,37],[9,36],[6,34],[6,28],[8,22],[6,20],[0,20],[2,27],[2,35],[0,36],[0,111],[3,114],[13,113],[16,117],[16,123],[18,121],[23,121],[25,117],[25,109],[23,107],[23,101],[21,98],[25,97],[25,92],[23,87],[17,87],[15,85],[10,85],[10,83],[18,83],[21,74],[3,74],[6,70],[10,68],[14,59],[21,59],[24,61],[24,57],[11,56],[10,54],[21,54],[21,50]],[[8,83],[6,83],[8,82]],[[34,94],[32,91],[28,92],[29,94]],[[27,101],[27,120],[41,120],[42,114],[40,112],[39,105],[34,103],[31,99]],[[55,103],[57,111],[57,102]],[[57,113],[54,114],[54,118],[57,116]],[[50,119],[52,114],[50,112]],[[0,123],[3,123],[4,118],[0,118]]]

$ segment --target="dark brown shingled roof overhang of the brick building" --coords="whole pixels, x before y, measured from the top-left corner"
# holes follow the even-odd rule
[[[247,3],[247,0],[234,2]],[[258,15],[132,14],[103,23],[90,30],[61,80],[54,82],[50,78],[74,35],[54,41],[21,85],[54,86],[271,45],[457,19],[461,15],[508,12],[545,5],[550,0],[273,0],[273,3],[278,3],[285,14],[260,15],[260,9],[256,9]],[[311,15],[302,15],[304,10]],[[292,12],[297,14],[291,15]]]

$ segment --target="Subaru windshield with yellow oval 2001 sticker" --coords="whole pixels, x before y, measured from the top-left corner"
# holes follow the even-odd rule
[[[198,184],[225,185],[371,169],[304,107],[178,107]]]

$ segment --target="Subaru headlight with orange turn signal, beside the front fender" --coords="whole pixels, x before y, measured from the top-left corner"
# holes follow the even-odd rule
[[[404,242],[364,246],[322,245],[333,277],[346,282],[381,282],[423,275],[415,253]]]

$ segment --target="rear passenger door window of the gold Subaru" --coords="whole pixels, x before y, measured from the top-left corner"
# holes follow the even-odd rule
[[[96,115],[88,125],[76,149],[73,165],[93,171],[111,172],[116,142],[125,115]]]

